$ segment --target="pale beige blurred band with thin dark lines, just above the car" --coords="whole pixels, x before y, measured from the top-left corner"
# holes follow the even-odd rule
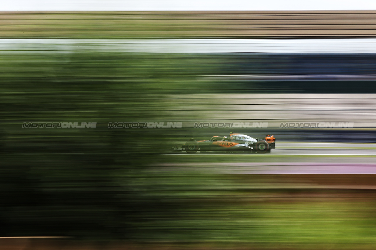
[[[376,127],[376,94],[196,94],[168,99],[170,107],[162,112],[178,120],[255,120],[268,122],[269,128],[279,127],[280,122],[354,122],[354,127]]]

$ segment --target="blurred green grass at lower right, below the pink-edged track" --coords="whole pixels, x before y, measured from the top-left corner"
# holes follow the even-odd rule
[[[278,176],[174,174],[145,181],[160,200],[184,204],[167,208],[162,221],[138,225],[155,241],[351,249],[368,248],[376,239],[374,192],[258,190],[256,182],[278,182]]]

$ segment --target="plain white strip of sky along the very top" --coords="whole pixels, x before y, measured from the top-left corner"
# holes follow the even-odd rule
[[[0,11],[376,10],[376,0],[11,0]]]

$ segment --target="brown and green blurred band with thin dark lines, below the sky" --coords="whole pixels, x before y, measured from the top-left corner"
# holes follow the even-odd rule
[[[328,36],[376,36],[376,11],[0,13],[0,38]]]

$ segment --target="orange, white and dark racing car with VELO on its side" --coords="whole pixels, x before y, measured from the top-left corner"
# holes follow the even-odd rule
[[[173,152],[185,150],[188,154],[200,152],[249,152],[249,153],[270,153],[270,149],[276,148],[276,139],[273,135],[267,135],[262,139],[255,139],[245,134],[230,133],[227,136],[213,136],[209,140],[196,141],[190,139],[184,145],[175,145],[171,148]]]

